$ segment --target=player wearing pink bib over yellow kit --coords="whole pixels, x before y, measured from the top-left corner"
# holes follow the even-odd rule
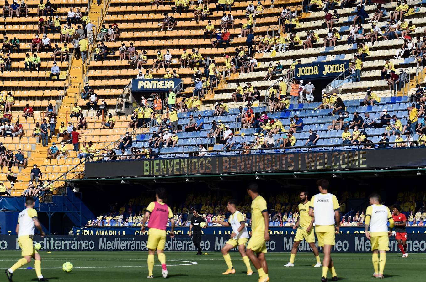
[[[164,255],[164,246],[166,245],[166,227],[167,222],[170,219],[172,230],[170,231],[170,238],[173,238],[175,234],[175,219],[173,212],[168,205],[163,202],[166,196],[164,188],[157,188],[155,190],[155,202],[150,202],[147,207],[147,212],[144,215],[142,221],[141,231],[145,231],[145,223],[148,220],[148,277],[154,278],[154,254],[157,249],[158,260],[161,262],[162,274],[166,278],[168,271],[166,266],[166,255]]]

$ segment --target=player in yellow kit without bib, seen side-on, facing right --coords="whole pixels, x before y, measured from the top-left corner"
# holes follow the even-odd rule
[[[269,216],[265,199],[259,195],[259,186],[251,183],[247,188],[251,197],[251,238],[246,253],[259,274],[259,282],[269,281],[266,264],[266,241],[269,241]]]

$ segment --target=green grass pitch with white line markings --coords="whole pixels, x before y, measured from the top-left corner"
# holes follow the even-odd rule
[[[152,281],[148,280],[147,251],[40,251],[42,272],[49,281]],[[195,252],[165,252],[170,281],[178,282],[236,282],[257,281],[256,271],[252,276],[246,275],[246,268],[237,252],[231,252],[231,259],[236,274],[222,275],[226,264],[220,252],[196,256]],[[424,281],[424,265],[426,254],[410,254],[408,258],[400,258],[400,254],[387,254],[385,281]],[[372,277],[373,265],[371,254],[332,254],[337,275],[341,281],[375,281]],[[4,269],[9,268],[20,258],[20,251],[0,252],[0,281],[7,281]],[[289,253],[269,253],[266,255],[271,282],[275,281],[320,281],[321,268],[311,265],[315,258],[311,253],[299,253],[295,267],[285,268],[283,265],[290,258]],[[321,254],[322,259],[322,254]],[[71,262],[74,269],[71,273],[62,271],[62,264]],[[30,262],[13,274],[13,281],[37,281]],[[155,256],[155,280],[161,280],[161,267]],[[328,273],[331,280],[331,275]]]

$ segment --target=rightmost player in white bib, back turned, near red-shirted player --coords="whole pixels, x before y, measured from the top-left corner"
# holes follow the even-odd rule
[[[368,198],[370,199],[370,206],[366,210],[365,225],[366,237],[371,241],[371,251],[373,252],[373,276],[384,278],[383,271],[386,264],[386,251],[389,249],[389,236],[392,235],[394,219],[389,208],[386,205],[380,205],[379,194],[373,193]]]

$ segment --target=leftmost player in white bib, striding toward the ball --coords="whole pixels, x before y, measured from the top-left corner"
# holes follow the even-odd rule
[[[41,275],[41,257],[32,245],[34,236],[34,228],[40,231],[41,237],[44,237],[43,229],[38,221],[37,211],[34,209],[34,199],[28,197],[25,200],[26,209],[18,215],[18,223],[16,225],[16,234],[18,236],[18,245],[22,250],[22,259],[18,260],[11,268],[6,269],[5,273],[9,281],[12,281],[12,274],[15,270],[31,262],[31,258],[35,259],[34,268],[38,281],[48,281]]]

